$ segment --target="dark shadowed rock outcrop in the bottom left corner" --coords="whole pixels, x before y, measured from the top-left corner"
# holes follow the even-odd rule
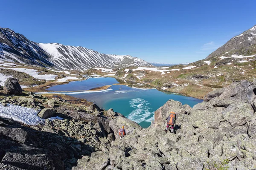
[[[74,142],[0,118],[0,169],[71,169],[80,158]]]

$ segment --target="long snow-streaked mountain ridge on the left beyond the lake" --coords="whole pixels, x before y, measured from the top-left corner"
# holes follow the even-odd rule
[[[84,47],[32,42],[9,28],[1,27],[0,60],[80,71],[94,67],[151,66],[143,59],[129,55],[101,54]]]

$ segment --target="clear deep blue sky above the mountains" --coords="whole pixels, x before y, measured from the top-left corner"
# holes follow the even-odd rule
[[[2,0],[0,27],[148,62],[206,58],[256,25],[256,0]]]

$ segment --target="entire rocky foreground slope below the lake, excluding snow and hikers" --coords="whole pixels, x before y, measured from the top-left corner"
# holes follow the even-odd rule
[[[0,118],[0,169],[256,169],[256,82],[243,80],[210,92],[193,108],[169,100],[146,129],[96,105],[74,107],[32,96],[31,107],[54,109],[64,119],[24,125]],[[20,97],[13,98],[4,96],[4,103],[20,104]],[[170,111],[177,113],[175,134],[163,131]],[[119,139],[122,125],[127,135]]]

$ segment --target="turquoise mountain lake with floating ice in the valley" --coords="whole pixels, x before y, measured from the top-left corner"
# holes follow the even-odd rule
[[[200,99],[172,94],[167,91],[113,85],[116,83],[118,81],[115,78],[90,78],[83,81],[70,82],[65,85],[52,86],[47,90],[81,91],[61,93],[87,99],[105,110],[113,108],[115,112],[122,113],[128,119],[139,123],[142,127],[148,127],[151,124],[151,120],[154,120],[154,111],[163,106],[169,99],[180,101],[183,105],[188,104],[191,107],[202,102]],[[86,91],[103,85],[112,86],[105,91],[94,91],[90,93]]]

